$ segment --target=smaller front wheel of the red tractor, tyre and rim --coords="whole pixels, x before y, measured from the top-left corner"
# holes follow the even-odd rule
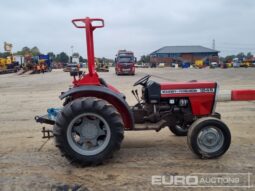
[[[200,118],[188,130],[188,145],[200,158],[222,156],[229,148],[231,134],[225,123],[213,117]]]

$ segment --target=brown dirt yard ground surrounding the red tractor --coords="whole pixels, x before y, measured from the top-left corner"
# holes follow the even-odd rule
[[[213,80],[221,89],[255,89],[255,68],[240,69],[139,69],[135,76],[100,73],[106,82],[126,94],[130,105],[133,83],[151,74],[153,80]],[[152,175],[190,173],[253,173],[255,176],[255,102],[218,103],[217,111],[232,132],[229,151],[215,160],[200,160],[168,129],[156,133],[125,132],[114,158],[97,167],[75,167],[61,157],[54,141],[41,139],[42,125],[34,116],[60,107],[60,92],[71,85],[62,70],[36,75],[0,76],[0,190],[51,190],[81,185],[80,190],[183,190],[153,186]],[[50,127],[50,126],[48,126]],[[245,188],[186,188],[185,190],[247,190]],[[248,190],[255,190],[250,188]]]

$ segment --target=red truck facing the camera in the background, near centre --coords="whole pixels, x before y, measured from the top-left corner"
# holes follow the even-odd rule
[[[115,73],[135,75],[136,58],[134,53],[127,50],[119,50],[115,58]]]

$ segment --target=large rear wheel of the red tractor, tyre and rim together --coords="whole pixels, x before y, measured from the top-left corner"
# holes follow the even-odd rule
[[[69,161],[83,166],[98,165],[120,149],[124,125],[111,104],[86,97],[63,108],[53,133],[56,146]]]

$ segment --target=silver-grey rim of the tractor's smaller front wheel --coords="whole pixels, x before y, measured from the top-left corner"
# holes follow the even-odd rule
[[[206,153],[219,151],[223,143],[223,132],[217,127],[205,127],[199,132],[197,137],[198,147]]]

